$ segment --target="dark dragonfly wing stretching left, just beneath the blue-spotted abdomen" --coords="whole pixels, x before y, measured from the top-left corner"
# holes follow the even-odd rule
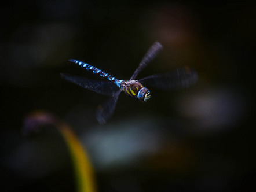
[[[119,91],[119,87],[113,82],[100,81],[94,79],[86,79],[84,77],[67,75],[61,73],[61,77],[72,83],[78,84],[81,87],[87,88],[91,91],[95,91],[102,95],[114,97],[116,92]]]

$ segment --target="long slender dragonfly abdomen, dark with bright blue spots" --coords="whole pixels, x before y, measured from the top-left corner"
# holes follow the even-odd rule
[[[97,67],[89,65],[85,62],[78,61],[78,60],[69,60],[69,61],[74,62],[75,64],[78,64],[80,67],[82,67],[88,71],[92,71],[93,73],[96,73],[96,74],[100,75],[101,77],[104,77],[104,78],[110,80],[111,82],[115,83],[119,88],[122,88],[121,84],[124,82],[124,80],[116,79],[115,77],[112,77],[111,75],[102,71],[101,69],[98,69]]]

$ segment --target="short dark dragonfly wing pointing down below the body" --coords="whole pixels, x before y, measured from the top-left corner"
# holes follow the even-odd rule
[[[104,104],[98,106],[96,118],[100,124],[106,123],[106,121],[113,115],[120,93],[121,90],[116,93],[115,97],[111,97],[108,101],[104,102]]]

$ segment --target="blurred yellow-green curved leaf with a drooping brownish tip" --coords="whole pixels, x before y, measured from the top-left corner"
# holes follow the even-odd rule
[[[74,163],[78,191],[96,191],[89,156],[74,132],[72,132],[71,127],[50,113],[33,112],[25,119],[25,135],[35,131],[38,132],[38,127],[42,125],[54,125],[63,135]]]

